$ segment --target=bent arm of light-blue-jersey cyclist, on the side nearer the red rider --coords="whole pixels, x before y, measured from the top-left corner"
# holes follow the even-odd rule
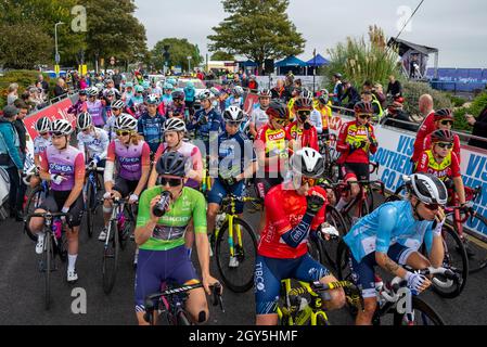
[[[398,210],[394,206],[384,207],[379,214],[379,226],[381,227],[377,230],[375,241],[375,261],[384,270],[403,279],[407,271],[387,256],[387,250],[390,246],[390,235],[399,217],[398,215]]]

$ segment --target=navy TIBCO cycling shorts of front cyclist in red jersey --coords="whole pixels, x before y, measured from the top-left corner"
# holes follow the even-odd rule
[[[281,281],[295,279],[316,282],[330,275],[330,271],[309,254],[297,259],[274,259],[258,256],[255,261],[254,288],[257,314],[278,312]]]

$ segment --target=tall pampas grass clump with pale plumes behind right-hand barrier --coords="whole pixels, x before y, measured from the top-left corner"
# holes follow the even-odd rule
[[[369,27],[369,42],[363,37],[348,37],[328,53],[331,63],[322,69],[325,77],[331,80],[333,74],[341,73],[359,91],[366,80],[386,86],[390,75],[400,75],[397,51],[387,47],[384,31],[376,26]]]

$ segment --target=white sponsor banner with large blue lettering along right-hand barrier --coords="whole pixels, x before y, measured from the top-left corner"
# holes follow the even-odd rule
[[[331,132],[338,134],[339,127],[354,118],[333,115]],[[411,175],[412,156],[415,133],[375,126],[375,137],[379,141],[379,150],[371,155],[371,162],[380,164],[377,175],[371,175],[372,180],[381,180],[389,192],[395,192],[403,184],[402,175]],[[482,195],[474,202],[474,208],[478,214],[487,217],[487,153],[480,149],[462,145],[461,171],[463,183],[470,188],[482,188]],[[466,222],[466,227],[474,232],[487,236],[487,228],[482,223]]]

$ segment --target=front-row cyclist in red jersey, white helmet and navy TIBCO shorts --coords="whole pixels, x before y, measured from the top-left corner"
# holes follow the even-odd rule
[[[297,151],[291,158],[292,179],[266,195],[266,228],[258,245],[255,267],[257,325],[277,325],[281,281],[335,282],[336,279],[308,254],[307,241],[325,221],[326,192],[317,187],[324,172],[324,158],[312,149]],[[331,291],[328,310],[345,304],[342,288]]]

